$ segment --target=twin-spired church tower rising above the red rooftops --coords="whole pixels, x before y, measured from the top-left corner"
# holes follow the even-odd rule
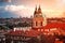
[[[44,16],[42,15],[42,12],[41,12],[41,8],[39,5],[39,8],[37,9],[36,6],[36,10],[35,10],[35,13],[34,13],[34,18],[32,18],[32,28],[41,28],[43,27],[44,25],[44,20],[46,18],[43,18]]]

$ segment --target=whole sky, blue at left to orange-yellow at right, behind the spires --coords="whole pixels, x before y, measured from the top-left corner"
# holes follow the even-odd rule
[[[0,0],[0,17],[30,17],[36,5],[47,17],[65,17],[65,0]]]

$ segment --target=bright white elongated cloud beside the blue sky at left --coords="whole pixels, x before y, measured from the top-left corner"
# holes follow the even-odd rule
[[[24,5],[6,5],[5,6],[6,11],[12,11],[12,12],[21,11],[21,10],[25,10],[25,9],[27,9],[27,8],[25,8]]]

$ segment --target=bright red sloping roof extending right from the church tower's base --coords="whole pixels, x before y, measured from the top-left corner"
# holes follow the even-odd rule
[[[39,28],[32,28],[32,29],[52,29],[52,28],[65,29],[65,24],[64,23],[50,23],[47,26],[39,27]]]

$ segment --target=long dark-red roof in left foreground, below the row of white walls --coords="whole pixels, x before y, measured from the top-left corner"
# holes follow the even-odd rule
[[[22,30],[16,30],[16,31],[10,31],[8,33],[9,35],[24,35],[24,37],[37,37],[38,35],[38,31],[36,30],[30,30],[30,31],[22,31]]]

